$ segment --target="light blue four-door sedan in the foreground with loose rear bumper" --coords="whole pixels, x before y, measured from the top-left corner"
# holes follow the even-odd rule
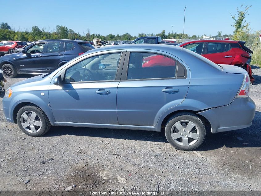
[[[162,61],[144,66],[149,57]],[[2,105],[6,120],[29,136],[44,135],[51,125],[164,128],[172,146],[193,150],[207,131],[250,127],[255,103],[249,94],[249,76],[237,66],[177,46],[122,44],[12,85]]]

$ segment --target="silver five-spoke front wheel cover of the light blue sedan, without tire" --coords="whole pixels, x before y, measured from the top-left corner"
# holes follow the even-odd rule
[[[33,111],[25,111],[21,115],[21,124],[27,132],[37,133],[42,128],[42,120]]]

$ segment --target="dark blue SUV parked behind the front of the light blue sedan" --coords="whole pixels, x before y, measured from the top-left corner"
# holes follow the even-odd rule
[[[50,73],[71,59],[92,50],[87,41],[40,40],[24,47],[21,52],[0,58],[0,69],[7,78],[17,74]]]

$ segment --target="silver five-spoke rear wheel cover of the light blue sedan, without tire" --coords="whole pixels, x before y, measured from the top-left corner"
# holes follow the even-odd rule
[[[171,128],[173,141],[181,146],[190,146],[199,139],[199,128],[189,120],[180,120]]]

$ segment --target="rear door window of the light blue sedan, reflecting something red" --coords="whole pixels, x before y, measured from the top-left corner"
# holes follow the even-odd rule
[[[155,53],[132,52],[128,64],[127,80],[174,78],[177,61]]]

